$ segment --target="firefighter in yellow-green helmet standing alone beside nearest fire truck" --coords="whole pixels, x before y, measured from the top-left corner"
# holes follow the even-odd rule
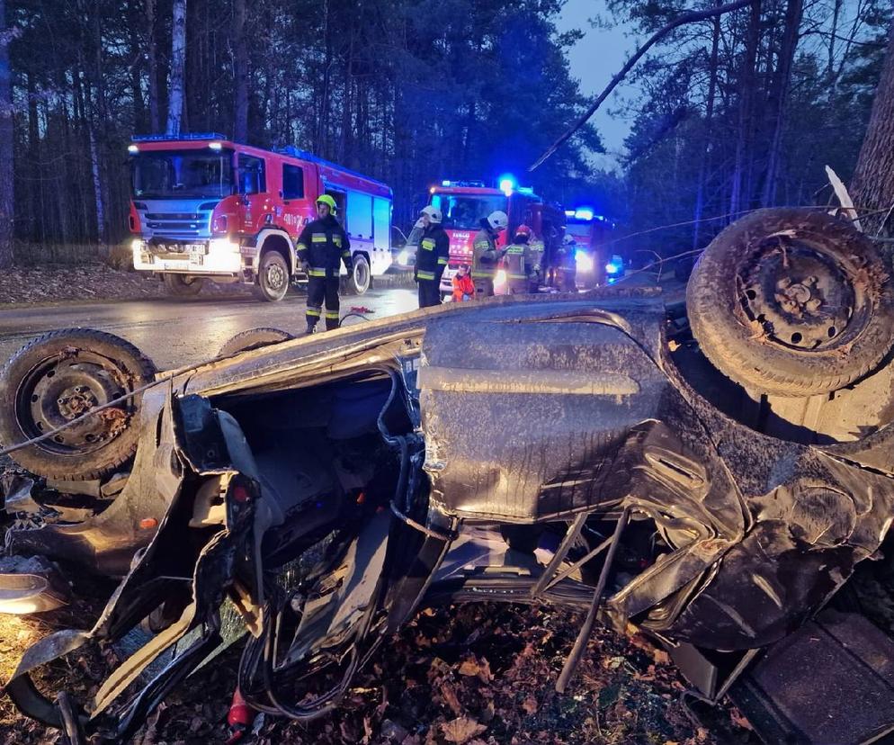
[[[308,223],[298,239],[298,258],[308,274],[308,334],[313,334],[326,301],[326,331],[338,328],[338,274],[341,264],[351,274],[351,241],[338,220],[335,200],[317,197],[317,220]]]

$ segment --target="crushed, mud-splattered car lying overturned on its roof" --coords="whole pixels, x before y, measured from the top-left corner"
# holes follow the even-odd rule
[[[0,380],[0,439],[97,498],[7,550],[122,579],[8,694],[71,741],[126,740],[247,633],[242,695],[309,719],[420,606],[485,599],[585,614],[559,690],[602,620],[712,666],[722,696],[888,532],[894,283],[849,222],[759,211],[706,249],[686,305],[499,298],[267,329],[165,374],[100,332],[32,342]],[[58,579],[4,588],[6,610],[64,602]],[[91,700],[31,682],[140,626]]]

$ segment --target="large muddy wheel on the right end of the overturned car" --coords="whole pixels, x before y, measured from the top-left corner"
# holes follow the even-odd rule
[[[872,242],[819,211],[761,210],[711,241],[686,288],[693,335],[746,389],[806,397],[894,345],[894,285]]]

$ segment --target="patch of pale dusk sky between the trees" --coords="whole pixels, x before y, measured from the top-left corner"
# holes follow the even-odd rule
[[[571,49],[568,60],[571,75],[580,80],[581,91],[594,98],[621,69],[630,51],[636,48],[636,40],[630,36],[626,24],[619,23],[612,29],[592,28],[589,19],[597,15],[603,21],[612,20],[604,0],[568,0],[558,23],[559,31],[577,28],[586,32],[586,37]],[[623,147],[630,123],[620,117],[612,117],[609,112],[617,108],[619,96],[627,95],[630,95],[630,87],[622,83],[594,116],[612,162],[612,154],[617,154]],[[597,165],[609,166],[604,160],[598,158]]]

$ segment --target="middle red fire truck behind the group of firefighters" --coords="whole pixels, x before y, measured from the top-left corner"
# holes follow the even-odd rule
[[[532,244],[552,256],[559,247],[565,214],[559,205],[544,202],[532,189],[502,180],[499,189],[480,181],[443,181],[429,190],[429,203],[443,212],[443,227],[450,236],[450,261],[441,280],[441,295],[452,292],[451,280],[460,264],[472,264],[472,240],[481,220],[495,210],[509,216],[509,229],[497,238],[505,246],[514,229],[527,225],[534,234]]]

